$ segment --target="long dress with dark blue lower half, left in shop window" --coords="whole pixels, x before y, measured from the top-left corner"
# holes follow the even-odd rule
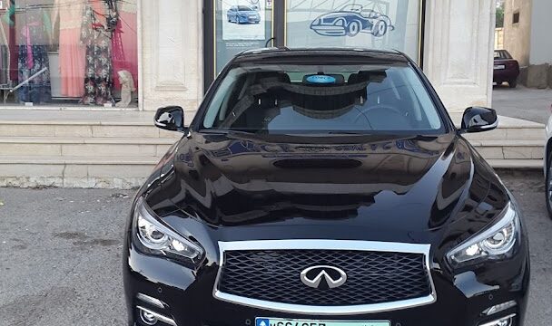
[[[48,44],[50,24],[44,22],[44,1],[23,0],[15,9],[15,30],[18,41],[18,82],[25,82],[35,73],[47,70],[17,91],[20,102],[44,103],[52,100]],[[48,23],[48,24],[45,24]]]

